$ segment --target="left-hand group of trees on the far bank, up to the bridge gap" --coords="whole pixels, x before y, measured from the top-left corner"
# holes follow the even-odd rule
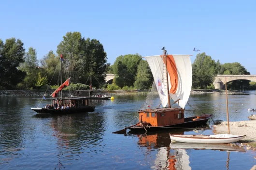
[[[62,82],[71,77],[73,84],[80,84],[77,87],[88,88],[83,85],[92,73],[95,87],[104,84],[110,64],[103,45],[97,39],[85,39],[80,32],[68,32],[58,44],[57,53],[49,51],[40,61],[36,49],[29,47],[25,52],[20,39],[6,39],[5,43],[0,39],[0,90],[59,85],[60,54],[64,58]]]

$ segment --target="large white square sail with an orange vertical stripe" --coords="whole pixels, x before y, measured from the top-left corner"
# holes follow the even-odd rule
[[[192,86],[192,66],[189,55],[167,55],[167,64],[162,55],[145,57],[153,74],[161,104],[168,104],[166,66],[170,97],[184,108]]]

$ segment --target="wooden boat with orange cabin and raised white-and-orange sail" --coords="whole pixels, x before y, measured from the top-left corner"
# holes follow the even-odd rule
[[[212,114],[184,117],[184,107],[192,87],[192,65],[189,55],[162,55],[144,57],[154,77],[162,108],[139,110],[139,122],[124,129],[156,131],[167,127],[193,128],[206,124]],[[171,108],[170,97],[181,108]],[[121,133],[116,131],[113,133]]]

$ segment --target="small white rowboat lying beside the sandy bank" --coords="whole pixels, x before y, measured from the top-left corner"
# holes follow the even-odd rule
[[[221,136],[223,135],[223,137]],[[170,134],[171,142],[197,144],[228,144],[245,138],[246,135],[218,134],[218,135],[174,135]]]

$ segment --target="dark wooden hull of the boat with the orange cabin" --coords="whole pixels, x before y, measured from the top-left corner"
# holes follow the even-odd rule
[[[195,128],[195,127],[199,127],[202,125],[205,125],[207,123],[207,121],[209,120],[209,118],[211,118],[213,115],[209,115],[209,117],[207,118],[203,118],[203,119],[199,119],[199,120],[191,120],[189,121],[189,119],[193,118],[185,118],[185,122],[183,123],[179,123],[179,124],[174,124],[174,125],[167,125],[167,126],[158,126],[158,127],[153,127],[153,126],[147,126],[145,127],[147,131],[161,131],[164,130],[168,127],[173,127],[173,128]],[[139,131],[145,131],[145,129],[141,126],[134,126],[131,128],[128,128],[129,130],[131,130],[131,132],[139,132]]]

